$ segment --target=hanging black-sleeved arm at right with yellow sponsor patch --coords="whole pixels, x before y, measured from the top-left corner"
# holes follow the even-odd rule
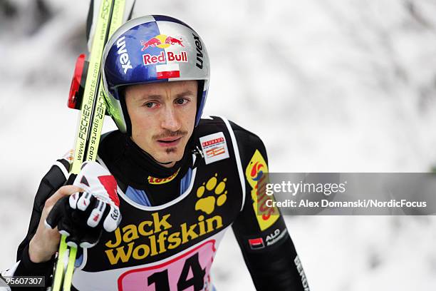
[[[268,208],[259,216],[254,211],[254,199],[263,199],[255,194],[257,174],[268,171],[264,144],[253,133],[231,125],[246,181],[244,208],[232,228],[256,290],[308,291],[306,275],[279,210]]]

